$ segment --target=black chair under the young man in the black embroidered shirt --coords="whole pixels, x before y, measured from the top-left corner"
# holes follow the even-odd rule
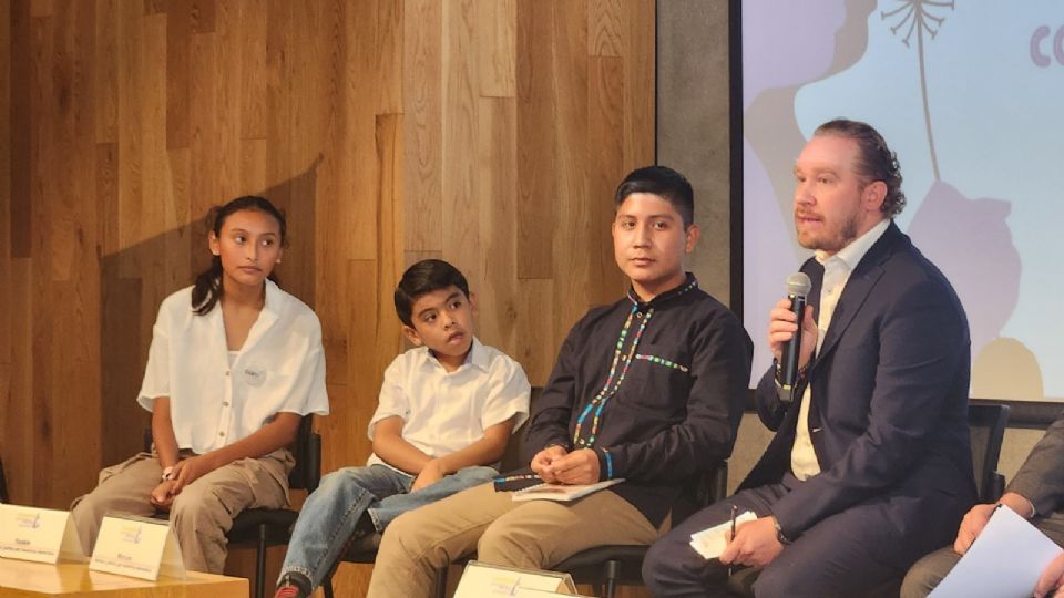
[[[727,488],[728,463],[723,462],[689,489],[695,507],[702,508],[727,496]],[[681,520],[674,520],[673,525]],[[613,598],[617,586],[643,585],[643,559],[648,549],[649,546],[596,546],[576,553],[551,569],[567,573],[576,584],[590,584],[595,596]]]

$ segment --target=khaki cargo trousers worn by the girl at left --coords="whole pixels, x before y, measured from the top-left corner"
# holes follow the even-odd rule
[[[288,504],[288,472],[295,461],[287,450],[260,458],[243,458],[204,475],[178,494],[170,522],[181,545],[185,568],[221,574],[225,568],[225,534],[245,508],[280,508]],[[91,493],[74,499],[71,515],[85,554],[91,554],[108,512],[152,516],[149,502],[163,470],[150,453],[100,472]]]

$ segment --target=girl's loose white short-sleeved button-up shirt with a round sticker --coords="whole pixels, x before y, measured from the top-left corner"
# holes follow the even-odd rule
[[[278,412],[327,415],[321,324],[305,303],[266,280],[266,301],[231,355],[222,307],[192,310],[192,287],[158,308],[137,402],[170,398],[180,448],[196,454],[258,431]]]

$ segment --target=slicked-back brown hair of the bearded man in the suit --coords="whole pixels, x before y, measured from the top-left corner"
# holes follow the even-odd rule
[[[898,156],[887,146],[887,141],[868,123],[836,118],[817,127],[815,135],[835,135],[857,142],[861,151],[857,173],[864,184],[882,181],[887,185],[887,197],[880,210],[888,218],[901,214],[906,207],[906,194],[901,193],[901,166]]]

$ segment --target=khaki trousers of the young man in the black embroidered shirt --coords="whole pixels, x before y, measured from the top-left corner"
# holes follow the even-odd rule
[[[492,565],[549,569],[594,546],[649,545],[662,532],[608,489],[572,503],[514,503],[511,495],[489,483],[400,515],[380,544],[367,596],[428,597],[438,570],[474,551]]]

